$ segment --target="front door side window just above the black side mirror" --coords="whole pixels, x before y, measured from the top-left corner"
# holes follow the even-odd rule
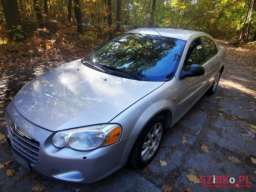
[[[188,54],[185,59],[185,69],[191,64],[200,65],[204,61],[203,59],[203,49],[200,38],[193,41],[188,49]]]

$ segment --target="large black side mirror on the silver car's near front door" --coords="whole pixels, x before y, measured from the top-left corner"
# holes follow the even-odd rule
[[[201,75],[204,75],[204,73],[205,73],[205,69],[203,66],[197,65],[197,64],[191,64],[189,65],[186,71],[182,69],[180,73],[180,79],[184,79],[186,77],[201,76]]]

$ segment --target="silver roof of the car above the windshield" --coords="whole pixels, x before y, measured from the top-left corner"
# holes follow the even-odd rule
[[[172,28],[140,28],[140,29],[133,29],[131,31],[127,31],[126,33],[139,33],[139,34],[146,34],[146,35],[172,37],[172,38],[187,41],[189,37],[191,37],[192,35],[196,33],[202,33],[202,32],[185,30],[185,29],[172,29]],[[205,33],[202,33],[202,35],[203,34]]]

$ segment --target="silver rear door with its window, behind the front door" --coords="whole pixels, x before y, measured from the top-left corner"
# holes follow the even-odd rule
[[[208,64],[208,82],[210,86],[217,76],[221,59],[218,57],[218,49],[210,37],[202,36],[203,48],[205,50],[205,59]]]

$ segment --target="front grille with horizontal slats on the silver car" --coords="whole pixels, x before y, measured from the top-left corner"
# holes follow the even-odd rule
[[[27,133],[23,132],[10,119],[9,115],[7,115],[7,119],[8,133],[14,152],[18,152],[29,163],[36,164],[40,147],[39,142],[34,139],[30,139]]]

